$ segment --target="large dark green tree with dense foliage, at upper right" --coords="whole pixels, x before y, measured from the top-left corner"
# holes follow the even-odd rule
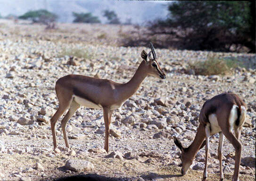
[[[255,1],[175,1],[168,10],[150,29],[178,39],[183,49],[256,51]]]

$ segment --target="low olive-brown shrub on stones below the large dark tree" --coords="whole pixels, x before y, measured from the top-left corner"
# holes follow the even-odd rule
[[[196,75],[217,75],[228,74],[238,66],[236,59],[208,57],[206,61],[190,63],[188,69],[193,69]]]

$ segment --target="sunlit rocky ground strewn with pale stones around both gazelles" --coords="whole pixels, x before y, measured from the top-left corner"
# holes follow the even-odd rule
[[[248,105],[239,175],[241,181],[255,180],[255,54],[156,49],[166,80],[147,77],[124,106],[114,111],[109,153],[102,149],[102,111],[86,107],[68,123],[71,149],[65,148],[58,121],[59,153],[55,153],[50,118],[58,107],[54,89],[58,78],[83,74],[124,83],[139,66],[140,52],[149,48],[118,46],[130,26],[59,24],[57,30],[44,28],[0,21],[0,180],[44,181],[68,176],[82,180],[90,176],[98,180],[199,181],[204,149],[181,176],[180,150],[173,136],[189,146],[203,103],[225,91],[237,93]],[[71,58],[63,55],[68,49],[86,54]],[[204,61],[209,55],[237,58],[245,67],[229,75],[186,74],[189,62]],[[216,181],[218,135],[210,142],[208,180]],[[234,148],[224,140],[225,180],[231,180],[234,171],[233,154]]]

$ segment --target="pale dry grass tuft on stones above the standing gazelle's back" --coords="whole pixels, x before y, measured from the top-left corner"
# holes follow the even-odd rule
[[[89,59],[93,57],[93,54],[89,53],[89,51],[85,49],[72,48],[72,49],[62,49],[58,57],[64,57],[64,56]]]

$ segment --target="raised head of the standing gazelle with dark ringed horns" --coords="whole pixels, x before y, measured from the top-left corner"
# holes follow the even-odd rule
[[[153,44],[150,43],[151,51],[147,54],[146,51],[141,51],[141,58],[145,61],[147,66],[146,70],[149,75],[153,75],[155,77],[160,77],[161,79],[165,79],[165,73],[161,70],[158,62],[157,62],[157,55],[155,53],[155,49]]]

